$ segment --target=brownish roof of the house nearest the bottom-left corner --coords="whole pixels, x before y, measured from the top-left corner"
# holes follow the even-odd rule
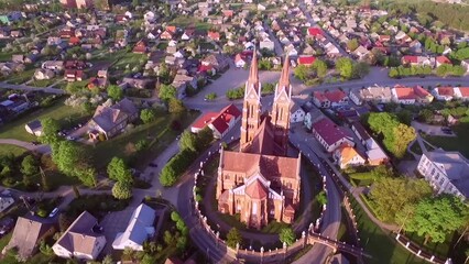
[[[33,253],[39,239],[41,239],[51,228],[51,223],[41,222],[40,219],[33,220],[19,217],[7,248],[17,248],[20,256],[28,257]]]

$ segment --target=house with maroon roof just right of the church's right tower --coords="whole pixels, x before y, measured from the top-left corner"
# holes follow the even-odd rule
[[[355,146],[353,135],[328,118],[323,118],[313,124],[313,134],[329,153],[341,145]]]

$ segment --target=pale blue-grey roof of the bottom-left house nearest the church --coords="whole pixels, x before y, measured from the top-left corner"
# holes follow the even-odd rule
[[[112,245],[120,245],[126,241],[132,241],[135,244],[143,245],[148,238],[146,228],[153,228],[155,220],[155,210],[141,204],[132,213],[126,231],[118,235]]]

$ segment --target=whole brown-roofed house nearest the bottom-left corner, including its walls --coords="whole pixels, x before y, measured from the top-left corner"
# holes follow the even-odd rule
[[[19,217],[13,234],[2,254],[10,249],[18,250],[18,256],[26,260],[32,256],[41,241],[54,233],[54,224],[48,219],[39,217]]]

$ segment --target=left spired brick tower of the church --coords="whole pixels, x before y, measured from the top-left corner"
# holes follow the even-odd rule
[[[255,131],[261,124],[261,82],[258,74],[258,55],[254,50],[249,78],[246,81],[244,102],[242,105],[241,141],[240,151],[254,138]]]

